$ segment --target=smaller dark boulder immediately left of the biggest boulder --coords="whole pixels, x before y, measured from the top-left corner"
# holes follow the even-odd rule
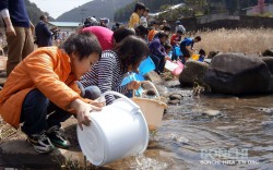
[[[195,60],[186,62],[182,73],[179,75],[179,82],[182,86],[192,86],[193,81],[203,82],[204,74],[209,64]]]

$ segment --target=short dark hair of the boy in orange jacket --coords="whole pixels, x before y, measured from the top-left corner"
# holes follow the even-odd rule
[[[71,34],[59,48],[63,49],[69,56],[73,52],[76,53],[80,61],[90,57],[93,52],[102,56],[102,47],[97,37],[88,32]]]

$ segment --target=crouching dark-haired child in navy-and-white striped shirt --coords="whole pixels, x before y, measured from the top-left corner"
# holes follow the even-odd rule
[[[80,81],[85,87],[86,94],[105,93],[115,90],[127,94],[128,90],[139,89],[140,82],[120,86],[123,76],[128,72],[138,72],[142,60],[149,56],[146,42],[136,36],[128,36],[120,41],[112,50],[106,50],[102,54],[100,61],[95,64]],[[100,92],[94,92],[90,86],[98,86]],[[99,95],[97,95],[99,96]],[[88,96],[86,96],[88,98]],[[106,104],[110,105],[115,100],[114,95],[106,95]]]

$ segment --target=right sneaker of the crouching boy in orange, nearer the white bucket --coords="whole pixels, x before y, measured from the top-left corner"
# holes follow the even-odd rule
[[[71,146],[67,137],[63,136],[63,130],[58,125],[54,125],[47,130],[46,135],[50,138],[51,143],[60,148],[68,148]]]

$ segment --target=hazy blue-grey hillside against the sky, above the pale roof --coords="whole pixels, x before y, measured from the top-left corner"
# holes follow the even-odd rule
[[[108,17],[112,21],[115,11],[132,1],[133,0],[94,0],[63,13],[57,21],[81,22],[85,17],[93,15],[96,16],[96,19]]]

